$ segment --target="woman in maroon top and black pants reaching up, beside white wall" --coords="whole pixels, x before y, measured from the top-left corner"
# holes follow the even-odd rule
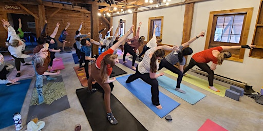
[[[143,41],[145,39],[144,36],[139,37],[140,34],[140,27],[141,27],[142,23],[139,23],[139,27],[136,33],[136,36],[134,36],[132,39],[128,40],[125,42],[124,45],[124,53],[123,53],[123,63],[126,63],[127,61],[125,60],[126,54],[129,53],[133,56],[133,64],[132,64],[132,69],[136,70],[136,68],[134,67],[135,64],[135,60],[136,60],[136,50],[143,45]]]

